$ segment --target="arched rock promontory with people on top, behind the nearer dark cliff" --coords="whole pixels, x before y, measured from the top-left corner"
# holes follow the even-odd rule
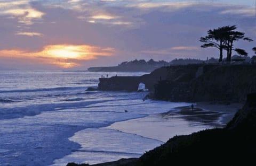
[[[175,82],[188,82],[193,79],[202,65],[169,66],[161,67],[142,76],[114,76],[100,78],[98,89],[102,91],[137,91],[139,83],[144,83],[146,88],[154,92],[155,85],[164,80]]]

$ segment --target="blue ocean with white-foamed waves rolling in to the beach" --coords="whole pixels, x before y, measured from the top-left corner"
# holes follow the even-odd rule
[[[86,91],[107,74],[146,73],[1,71],[0,165],[93,164],[139,157],[162,144],[105,127],[188,103],[142,100],[147,91]]]

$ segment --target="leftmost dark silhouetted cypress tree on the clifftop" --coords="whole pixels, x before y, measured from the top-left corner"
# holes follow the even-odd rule
[[[224,43],[225,43],[225,31],[223,31],[221,28],[218,29],[213,29],[213,30],[208,30],[207,31],[208,36],[206,37],[201,37],[199,41],[204,42],[204,45],[202,45],[202,48],[207,48],[207,47],[215,47],[218,48],[220,51],[220,58],[219,62],[222,61],[223,57],[223,48],[224,48]]]

